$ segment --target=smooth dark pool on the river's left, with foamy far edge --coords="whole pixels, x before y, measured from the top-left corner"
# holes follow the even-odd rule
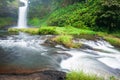
[[[43,42],[42,36],[30,36],[24,33],[0,40],[0,73],[58,70],[59,62],[52,56],[54,48],[40,45]],[[49,51],[51,53],[48,55]]]

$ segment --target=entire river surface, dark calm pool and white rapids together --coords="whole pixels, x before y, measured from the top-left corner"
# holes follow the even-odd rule
[[[120,76],[120,51],[103,40],[80,39],[91,48],[67,49],[43,45],[48,36],[25,33],[0,37],[0,73],[29,73],[44,69],[84,71],[108,78]]]

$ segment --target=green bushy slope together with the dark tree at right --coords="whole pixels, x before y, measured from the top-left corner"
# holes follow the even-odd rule
[[[50,15],[47,24],[115,32],[120,29],[120,1],[88,0],[62,7]]]

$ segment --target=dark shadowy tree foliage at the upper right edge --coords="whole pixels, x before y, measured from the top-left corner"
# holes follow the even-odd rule
[[[99,28],[109,33],[120,29],[120,0],[102,0],[96,13]]]

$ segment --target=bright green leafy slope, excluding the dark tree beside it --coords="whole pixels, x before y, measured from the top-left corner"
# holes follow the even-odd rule
[[[48,25],[66,26],[71,25],[77,28],[86,28],[95,26],[96,16],[93,13],[96,8],[88,6],[88,3],[76,3],[53,12],[49,19]]]

